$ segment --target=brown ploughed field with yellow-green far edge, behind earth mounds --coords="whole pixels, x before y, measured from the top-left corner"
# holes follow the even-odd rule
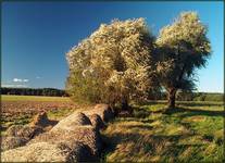
[[[60,120],[74,110],[87,108],[61,97],[2,96],[1,98],[1,131],[11,125],[27,124],[40,112],[47,112],[52,120]]]

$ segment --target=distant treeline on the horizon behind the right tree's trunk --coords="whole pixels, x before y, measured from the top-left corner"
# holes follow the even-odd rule
[[[161,93],[158,99],[166,100],[166,93]],[[178,92],[177,101],[224,101],[224,93],[214,92]]]

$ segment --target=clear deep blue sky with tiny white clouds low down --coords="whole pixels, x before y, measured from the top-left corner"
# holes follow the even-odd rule
[[[213,50],[207,68],[198,71],[198,90],[223,92],[223,2],[3,2],[1,85],[64,88],[65,53],[101,23],[146,17],[158,35],[182,11],[197,11]]]

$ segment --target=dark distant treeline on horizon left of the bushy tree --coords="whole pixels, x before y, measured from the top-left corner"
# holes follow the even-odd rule
[[[65,90],[55,88],[1,88],[1,95],[21,95],[21,96],[49,96],[67,97]]]

